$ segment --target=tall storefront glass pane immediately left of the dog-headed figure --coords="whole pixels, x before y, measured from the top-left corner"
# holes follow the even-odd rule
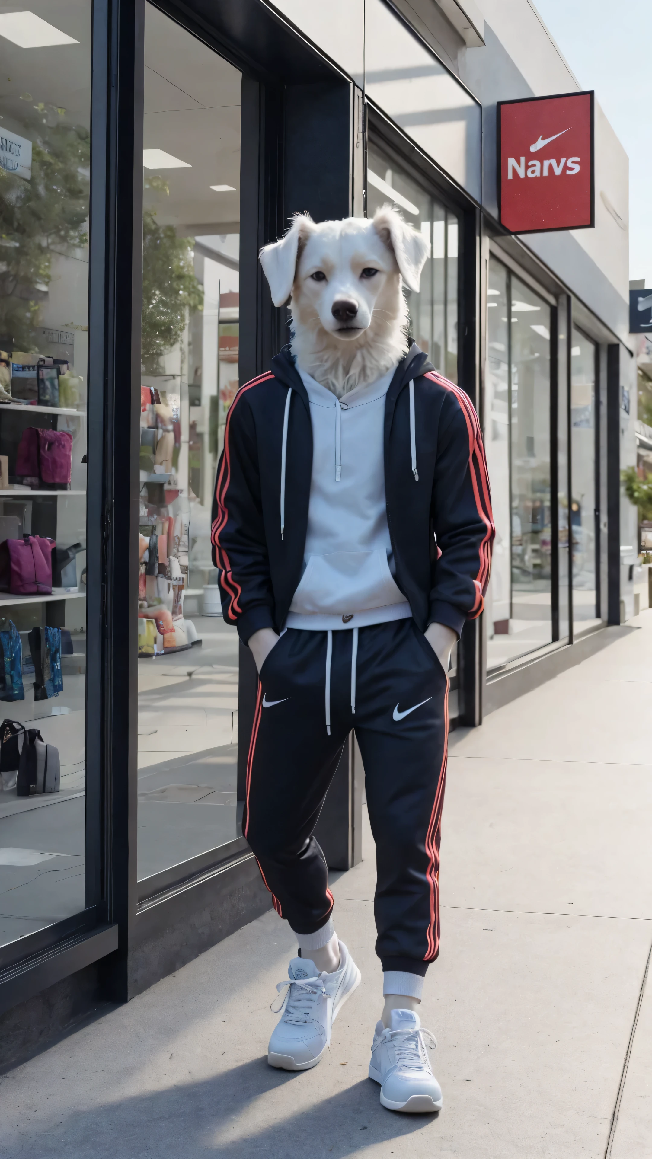
[[[238,636],[210,519],[238,389],[240,73],[151,5],[143,162],[138,879],[155,884],[238,837]]]

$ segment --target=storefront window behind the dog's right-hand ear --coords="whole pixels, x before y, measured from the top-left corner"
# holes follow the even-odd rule
[[[436,370],[457,382],[458,220],[376,146],[369,146],[367,213],[393,204],[428,241],[419,293],[405,291],[411,333]]]

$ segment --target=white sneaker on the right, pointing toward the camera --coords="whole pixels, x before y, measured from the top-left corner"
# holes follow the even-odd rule
[[[387,1029],[377,1023],[369,1078],[381,1084],[383,1107],[412,1113],[442,1109],[442,1092],[430,1070],[426,1044],[434,1050],[436,1038],[421,1029],[414,1011],[392,1011]]]

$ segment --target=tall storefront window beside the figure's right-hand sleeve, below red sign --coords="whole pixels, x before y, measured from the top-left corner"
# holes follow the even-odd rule
[[[491,671],[552,640],[550,307],[494,258],[487,343],[485,438],[497,526]]]

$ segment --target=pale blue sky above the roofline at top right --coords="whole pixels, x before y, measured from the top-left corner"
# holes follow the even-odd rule
[[[630,279],[652,286],[652,148],[647,19],[643,0],[534,0],[582,88],[595,97],[629,156]]]

